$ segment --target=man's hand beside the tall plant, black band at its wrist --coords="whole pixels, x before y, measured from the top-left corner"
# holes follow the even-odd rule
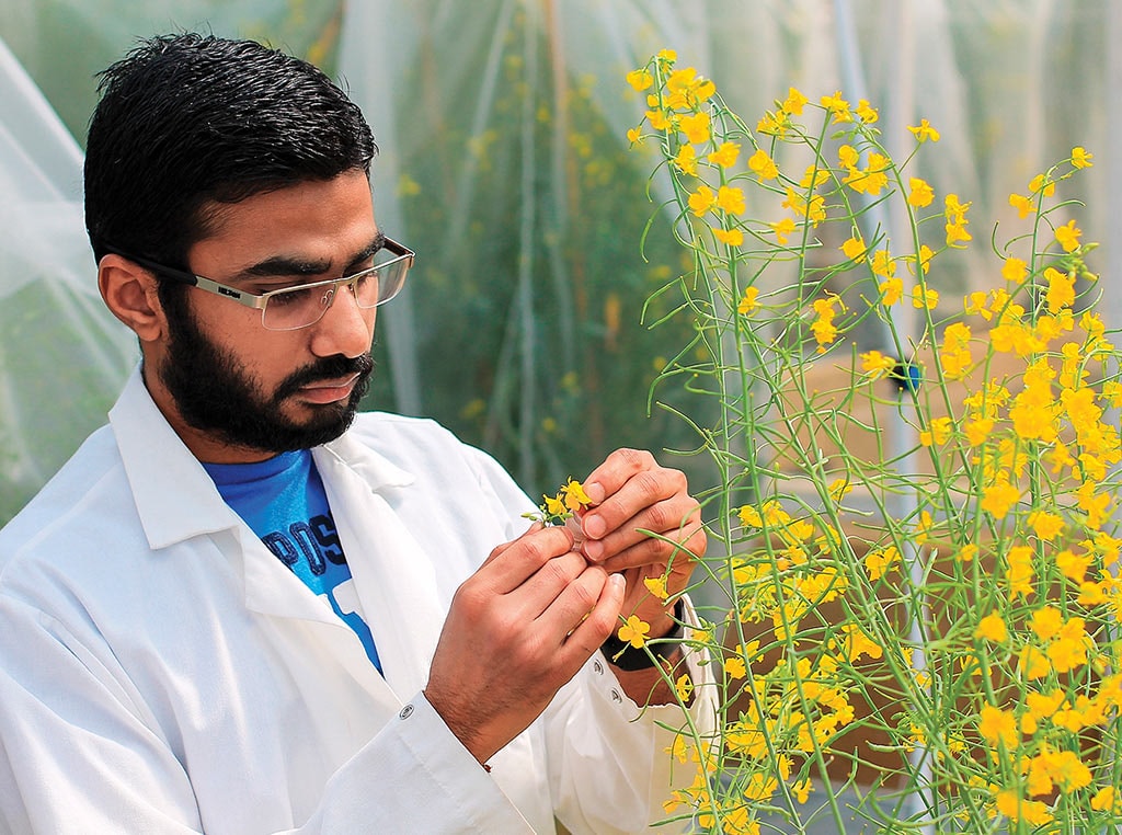
[[[650,452],[620,449],[585,479],[585,493],[592,507],[581,517],[581,550],[605,571],[623,574],[623,615],[635,614],[649,623],[650,637],[665,635],[673,628],[673,600],[706,548],[701,508],[688,492],[686,476],[661,467]],[[653,579],[657,585],[663,578],[670,605],[644,582]]]

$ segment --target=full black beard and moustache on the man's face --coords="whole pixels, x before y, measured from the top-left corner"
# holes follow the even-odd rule
[[[171,340],[159,378],[183,420],[226,443],[280,453],[333,441],[350,426],[370,385],[374,359],[335,355],[288,375],[272,395],[246,375],[232,352],[208,338],[190,310],[168,316]],[[302,387],[359,375],[346,401],[311,405],[313,414],[297,423],[284,414],[284,402]]]

